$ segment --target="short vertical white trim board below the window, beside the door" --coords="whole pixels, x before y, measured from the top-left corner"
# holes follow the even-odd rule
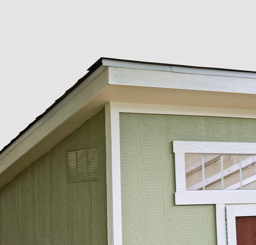
[[[225,204],[216,204],[217,244],[227,244]]]

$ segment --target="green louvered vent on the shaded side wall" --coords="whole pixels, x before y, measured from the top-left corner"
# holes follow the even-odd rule
[[[67,182],[99,180],[99,146],[86,145],[67,151]]]

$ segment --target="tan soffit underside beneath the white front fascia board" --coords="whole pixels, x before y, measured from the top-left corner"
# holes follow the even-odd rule
[[[256,109],[256,95],[251,94],[125,85],[109,85],[95,99],[104,102]]]

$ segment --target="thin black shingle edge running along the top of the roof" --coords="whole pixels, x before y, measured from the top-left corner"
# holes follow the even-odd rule
[[[109,61],[117,61],[117,62],[129,62],[129,63],[137,63],[137,64],[148,64],[148,65],[162,65],[162,66],[175,66],[175,67],[186,67],[186,68],[192,68],[192,69],[207,69],[207,70],[218,70],[218,71],[231,71],[231,72],[250,72],[250,73],[256,73],[256,71],[245,71],[245,70],[233,70],[233,69],[223,69],[223,68],[215,68],[215,67],[202,67],[202,66],[190,66],[190,65],[177,65],[177,64],[166,64],[166,63],[156,63],[156,62],[144,62],[144,61],[131,61],[131,60],[122,60],[118,58],[107,58],[107,57],[101,57],[98,61],[96,61],[93,65],[87,69],[87,72],[81,79],[79,79],[75,85],[73,85],[71,88],[69,88],[65,94],[63,94],[60,98],[55,100],[55,102],[45,110],[44,113],[37,116],[36,119],[31,122],[26,129],[22,130],[17,137],[15,137],[11,142],[6,145],[1,151],[0,155],[9,148],[17,139],[19,139],[22,134],[24,134],[26,131],[28,131],[34,124],[36,124],[40,119],[42,119],[43,116],[45,116],[47,113],[51,111],[53,107],[58,105],[61,100],[63,100],[65,97],[67,97],[70,92],[72,92],[75,88],[77,88],[86,78],[88,78],[94,71],[96,71],[101,65],[102,60],[109,60]]]

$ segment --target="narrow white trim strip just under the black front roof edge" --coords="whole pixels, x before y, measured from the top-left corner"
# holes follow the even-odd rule
[[[139,70],[153,70],[153,71],[171,71],[178,73],[190,73],[190,74],[203,74],[203,75],[218,75],[226,77],[239,77],[239,78],[256,78],[256,73],[243,72],[243,71],[225,71],[225,70],[214,70],[214,69],[202,69],[193,67],[182,67],[182,66],[169,66],[169,65],[157,65],[157,64],[143,64],[135,62],[123,62],[113,60],[102,60],[102,65],[121,67],[129,69]]]

